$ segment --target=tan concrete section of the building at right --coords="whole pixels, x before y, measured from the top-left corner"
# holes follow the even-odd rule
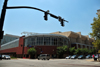
[[[88,35],[81,35],[81,32],[53,32],[51,34],[59,34],[64,35],[70,39],[70,47],[77,48],[88,48],[93,49],[92,42],[94,41],[93,38],[89,38]]]

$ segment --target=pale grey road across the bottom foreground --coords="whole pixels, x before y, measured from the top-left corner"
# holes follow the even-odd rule
[[[0,67],[100,67],[100,62],[78,59],[13,59],[0,60]]]

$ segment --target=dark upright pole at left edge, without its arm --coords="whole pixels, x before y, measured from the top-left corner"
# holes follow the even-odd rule
[[[2,12],[1,12],[1,18],[0,18],[0,45],[1,45],[1,39],[3,38],[3,33],[4,33],[4,31],[2,29],[3,29],[5,14],[6,14],[7,2],[8,2],[8,0],[4,1],[4,5],[2,8]]]

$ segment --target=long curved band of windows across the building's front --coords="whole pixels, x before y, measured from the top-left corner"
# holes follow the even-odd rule
[[[62,46],[68,44],[67,38],[60,37],[31,37],[25,39],[25,45],[54,45],[54,46]]]

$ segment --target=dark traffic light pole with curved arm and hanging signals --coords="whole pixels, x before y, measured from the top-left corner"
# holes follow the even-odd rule
[[[14,6],[14,7],[7,7],[7,2],[8,0],[5,0],[4,1],[4,5],[3,5],[3,9],[2,9],[2,12],[1,12],[1,18],[0,18],[0,43],[1,43],[1,39],[3,38],[3,24],[4,24],[4,18],[5,18],[5,14],[6,14],[6,9],[16,9],[16,8],[29,8],[29,9],[35,9],[35,10],[39,10],[41,12],[44,12],[45,13],[45,16],[44,16],[44,19],[47,20],[47,15],[49,14],[51,17],[55,18],[55,19],[59,19],[59,16],[55,16],[51,13],[49,13],[48,11],[44,11],[44,10],[41,10],[39,8],[35,8],[35,7],[28,7],[28,6]],[[65,21],[65,22],[68,22],[64,19],[62,19],[62,21]],[[61,22],[61,25],[63,25],[63,22]]]

